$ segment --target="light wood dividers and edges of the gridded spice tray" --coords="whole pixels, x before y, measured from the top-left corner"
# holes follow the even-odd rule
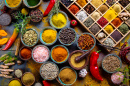
[[[124,38],[130,33],[130,28],[129,28],[129,31],[128,31],[125,35],[118,30],[118,28],[119,28],[123,23],[127,24],[128,27],[130,27],[130,25],[129,25],[127,22],[125,22],[125,21],[123,21],[123,22],[120,24],[119,27],[115,27],[115,26],[111,23],[112,20],[111,20],[111,21],[108,21],[108,23],[107,23],[103,28],[97,23],[97,21],[98,21],[101,17],[103,17],[103,15],[107,12],[107,11],[106,11],[104,14],[102,14],[102,13],[98,10],[101,5],[105,4],[105,5],[110,9],[110,8],[113,7],[115,4],[119,4],[119,5],[121,6],[121,9],[122,9],[121,12],[123,12],[123,11],[128,12],[128,11],[126,10],[126,7],[127,7],[128,5],[130,5],[130,3],[129,3],[126,7],[123,7],[123,6],[119,3],[119,1],[116,1],[115,4],[113,4],[112,6],[109,6],[109,5],[107,4],[107,2],[103,2],[98,8],[96,8],[96,7],[91,3],[91,0],[89,0],[89,1],[87,2],[87,4],[86,4],[85,6],[83,6],[83,7],[81,7],[76,1],[72,1],[72,3],[71,3],[69,6],[65,6],[65,5],[62,3],[62,1],[60,1],[60,3],[61,3],[61,4],[74,16],[74,18],[75,18],[88,32],[90,32],[91,34],[93,34],[93,33],[89,30],[89,28],[90,28],[92,25],[97,24],[101,29],[100,29],[100,31],[98,31],[96,34],[93,34],[93,35],[94,35],[94,37],[95,37],[101,44],[103,44],[103,42],[109,37],[109,38],[111,38],[111,39],[114,41],[115,45],[114,45],[113,47],[115,47],[117,44],[120,43],[120,41],[121,41],[122,39],[124,39]],[[97,2],[97,3],[98,3],[98,2]],[[77,6],[80,8],[80,10],[79,10],[76,14],[73,14],[73,13],[69,10],[69,7],[70,7],[71,5],[73,5],[73,4],[77,5]],[[95,8],[95,11],[97,11],[97,12],[99,12],[99,13],[101,14],[101,17],[100,17],[98,20],[95,21],[95,20],[91,17],[91,15],[92,15],[95,11],[93,11],[91,14],[89,14],[89,13],[87,13],[87,12],[85,11],[84,8],[85,8],[88,4],[91,4],[91,5]],[[86,26],[84,25],[84,23],[83,23],[84,21],[81,22],[81,21],[76,17],[76,15],[77,15],[81,10],[85,11],[86,14],[88,15],[88,17],[87,17],[84,21],[86,21],[89,17],[94,20],[94,23],[93,23],[90,27],[86,27]],[[121,13],[121,12],[120,12],[120,13]],[[120,14],[120,13],[119,13],[119,14]],[[129,13],[129,12],[128,12],[128,13]],[[117,15],[117,17],[119,16],[119,14]],[[113,19],[113,20],[114,20],[114,19]],[[107,25],[109,25],[109,24],[113,26],[113,28],[114,28],[113,32],[117,30],[117,31],[122,35],[122,38],[121,38],[119,41],[115,41],[114,38],[112,38],[111,34],[112,34],[113,32],[110,33],[110,34],[108,34],[108,33],[104,30],[104,28],[105,28]],[[104,38],[104,39],[102,39],[102,40],[99,40],[99,39],[97,38],[97,35],[98,35],[100,32],[104,32],[104,33],[107,35],[106,38]]]

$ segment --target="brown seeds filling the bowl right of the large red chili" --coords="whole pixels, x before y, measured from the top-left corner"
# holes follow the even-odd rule
[[[120,60],[116,56],[110,55],[103,60],[102,67],[109,72],[114,72],[120,68],[120,63]]]

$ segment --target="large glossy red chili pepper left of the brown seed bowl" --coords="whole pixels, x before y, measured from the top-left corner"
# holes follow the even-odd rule
[[[91,74],[98,80],[103,81],[103,78],[99,74],[99,69],[97,65],[97,59],[99,58],[99,53],[100,51],[97,52],[92,52],[91,57],[90,57],[90,72]]]

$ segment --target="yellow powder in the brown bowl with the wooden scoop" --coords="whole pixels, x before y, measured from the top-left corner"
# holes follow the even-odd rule
[[[82,66],[84,66],[84,64],[85,64],[85,62],[86,62],[86,60],[84,59],[84,60],[82,60],[81,62],[79,62],[79,63],[75,63],[75,58],[77,57],[77,56],[80,56],[80,55],[82,55],[82,53],[81,52],[77,52],[77,53],[74,53],[72,56],[71,56],[71,58],[70,58],[70,61],[71,61],[71,64],[74,66],[74,67],[82,67]]]

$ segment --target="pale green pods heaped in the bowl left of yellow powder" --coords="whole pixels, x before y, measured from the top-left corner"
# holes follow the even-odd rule
[[[23,42],[26,45],[34,45],[37,42],[38,39],[38,35],[34,30],[27,30],[24,34],[23,34]]]

